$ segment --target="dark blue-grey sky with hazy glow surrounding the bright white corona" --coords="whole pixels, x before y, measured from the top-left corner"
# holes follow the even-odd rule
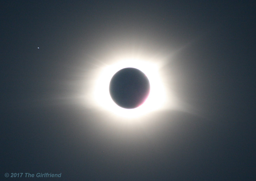
[[[253,1],[2,1],[0,180],[26,172],[255,180],[255,9]],[[171,53],[165,79],[193,111],[116,126],[72,98],[104,55],[140,49]]]

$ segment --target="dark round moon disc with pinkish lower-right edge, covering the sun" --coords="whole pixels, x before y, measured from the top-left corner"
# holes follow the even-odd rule
[[[120,107],[133,109],[146,101],[150,91],[147,76],[136,68],[123,68],[110,80],[109,93]]]

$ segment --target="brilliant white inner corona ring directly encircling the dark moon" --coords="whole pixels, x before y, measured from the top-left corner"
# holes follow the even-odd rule
[[[149,79],[150,93],[147,100],[135,109],[124,109],[112,100],[109,94],[109,82],[113,75],[122,68],[133,67],[141,70]],[[102,67],[94,86],[94,100],[99,108],[124,118],[137,118],[163,108],[166,92],[159,74],[160,65],[152,61],[129,58],[121,59],[111,65]]]

